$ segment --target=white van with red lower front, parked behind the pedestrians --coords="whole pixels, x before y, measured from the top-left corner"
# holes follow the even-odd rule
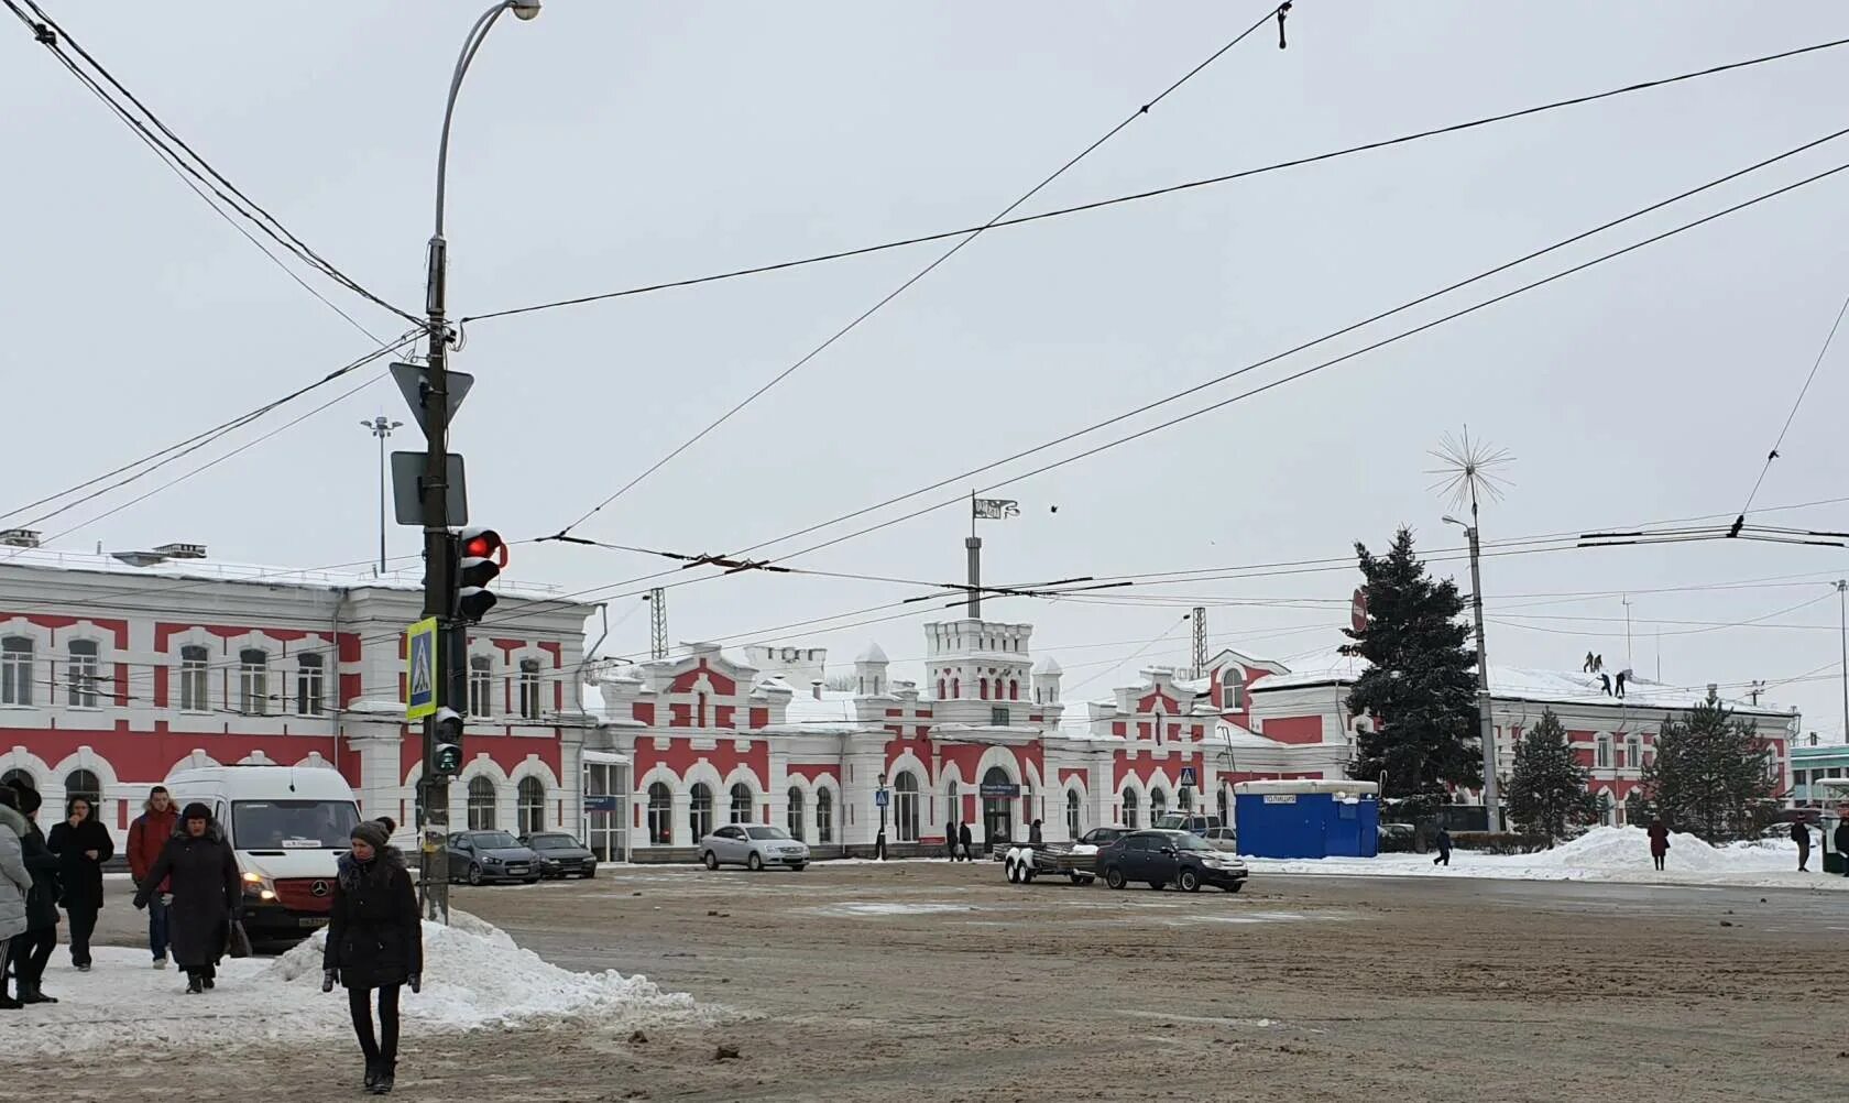
[[[359,801],[325,766],[198,766],[166,777],[174,803],[200,801],[237,851],[244,931],[290,942],[327,925]]]

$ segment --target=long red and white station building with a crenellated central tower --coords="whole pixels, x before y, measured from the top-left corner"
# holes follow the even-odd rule
[[[0,540],[7,537],[0,535]],[[24,540],[24,537],[11,537]],[[422,738],[405,725],[410,576],[214,564],[192,546],[70,555],[0,546],[0,775],[50,801],[87,794],[126,833],[174,768],[277,762],[338,770],[372,816],[412,822]],[[865,853],[888,792],[897,853],[1148,825],[1165,811],[1226,816],[1231,787],[1344,777],[1359,674],[1333,659],[1289,670],[1220,651],[1202,677],[1150,668],[1108,700],[1067,701],[1035,661],[1032,626],[924,626],[919,681],[875,644],[852,688],[825,688],[827,651],[688,644],[618,666],[586,663],[594,605],[496,583],[470,638],[464,768],[451,824],[579,831],[605,857],[693,857],[712,825],[786,825],[819,857]],[[1579,674],[1492,668],[1501,772],[1551,707],[1622,822],[1664,716],[1705,692],[1633,681],[1625,700]],[[1790,781],[1797,714],[1733,701]],[[1193,779],[1183,787],[1183,772]]]

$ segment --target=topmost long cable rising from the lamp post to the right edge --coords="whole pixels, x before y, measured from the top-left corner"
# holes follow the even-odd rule
[[[1204,180],[1191,180],[1187,183],[1172,183],[1172,185],[1157,187],[1157,189],[1150,189],[1150,191],[1139,191],[1139,192],[1132,192],[1132,194],[1122,194],[1122,196],[1113,196],[1113,198],[1104,198],[1104,200],[1093,200],[1089,204],[1078,204],[1074,207],[1058,207],[1054,211],[1041,211],[1037,215],[1022,215],[1019,218],[991,218],[989,222],[984,222],[980,226],[965,226],[961,229],[939,229],[936,233],[923,233],[923,235],[917,235],[917,237],[904,237],[904,239],[897,239],[897,241],[886,241],[886,242],[880,242],[880,244],[869,244],[869,246],[858,246],[858,248],[849,248],[849,250],[838,250],[838,252],[830,252],[830,254],[815,254],[815,255],[790,259],[790,261],[775,261],[775,263],[769,263],[769,265],[754,265],[754,266],[749,266],[749,268],[732,268],[732,270],[727,270],[727,272],[712,272],[712,274],[706,274],[706,276],[692,276],[692,278],[686,278],[686,279],[667,279],[667,281],[660,281],[660,283],[645,283],[645,285],[640,285],[640,287],[627,287],[623,291],[605,291],[605,292],[597,292],[597,294],[582,294],[582,296],[577,296],[577,298],[560,298],[560,300],[542,302],[542,304],[531,304],[531,305],[523,305],[523,307],[508,307],[508,309],[501,309],[501,311],[490,311],[490,313],[484,313],[484,315],[470,315],[470,316],[462,318],[462,324],[468,324],[468,322],[488,322],[488,320],[494,320],[494,318],[510,318],[510,316],[518,316],[518,315],[533,315],[533,313],[538,313],[538,311],[555,311],[555,309],[562,309],[562,307],[579,307],[579,305],[588,305],[588,304],[597,304],[597,302],[608,302],[608,300],[616,300],[616,298],[632,298],[632,296],[638,296],[638,294],[653,294],[653,292],[658,292],[658,291],[675,291],[675,289],[682,289],[682,287],[699,287],[703,283],[719,283],[719,281],[725,281],[725,279],[740,279],[743,276],[764,276],[767,272],[784,272],[784,270],[790,270],[790,268],[804,268],[808,265],[823,265],[823,263],[830,263],[830,261],[843,261],[843,259],[851,259],[851,257],[863,257],[863,255],[869,255],[869,254],[880,254],[880,252],[908,248],[908,246],[915,246],[915,244],[930,244],[930,242],[936,242],[936,241],[949,241],[952,237],[965,237],[965,235],[973,235],[973,233],[982,233],[986,229],[1006,229],[1006,228],[1011,228],[1011,226],[1026,226],[1030,222],[1045,222],[1048,218],[1063,218],[1067,215],[1082,215],[1082,213],[1087,213],[1087,211],[1100,211],[1104,207],[1115,207],[1115,205],[1120,205],[1120,204],[1137,204],[1137,202],[1143,202],[1143,200],[1169,196],[1169,194],[1176,194],[1176,192],[1183,192],[1183,191],[1215,187],[1215,185],[1220,185],[1220,183],[1231,183],[1235,180],[1246,180],[1246,178],[1252,178],[1252,176],[1265,176],[1268,172],[1281,172],[1285,168],[1302,168],[1304,165],[1316,165],[1316,163],[1322,163],[1322,161],[1335,161],[1339,157],[1350,157],[1350,155],[1355,155],[1355,154],[1368,154],[1368,152],[1385,150],[1385,148],[1390,148],[1390,146],[1403,146],[1403,144],[1424,141],[1424,139],[1431,139],[1431,137],[1451,135],[1451,133],[1459,133],[1459,131],[1466,131],[1466,130],[1476,130],[1479,126],[1492,126],[1496,122],[1509,122],[1512,118],[1524,118],[1524,117],[1529,117],[1529,115],[1542,115],[1546,111],[1557,111],[1557,109],[1562,109],[1562,107],[1579,107],[1583,104],[1592,104],[1592,102],[1598,102],[1598,100],[1609,100],[1612,96],[1625,96],[1625,94],[1631,94],[1631,93],[1642,93],[1642,91],[1649,91],[1649,89],[1659,89],[1659,87],[1664,87],[1664,85],[1673,85],[1673,83],[1681,83],[1681,81],[1688,81],[1688,80],[1697,80],[1697,78],[1705,78],[1705,76],[1731,72],[1731,70],[1736,70],[1736,68],[1749,68],[1749,67],[1766,65],[1766,63],[1771,63],[1771,61],[1784,61],[1784,59],[1790,59],[1790,57],[1803,56],[1803,54],[1812,54],[1812,52],[1818,52],[1818,50],[1832,50],[1836,46],[1845,46],[1845,44],[1849,44],[1849,39],[1836,39],[1836,41],[1829,41],[1829,43],[1818,43],[1814,46],[1801,46],[1797,50],[1784,50],[1781,54],[1766,54],[1766,56],[1760,56],[1760,57],[1749,57],[1745,61],[1733,61],[1733,63],[1727,63],[1727,65],[1714,65],[1714,67],[1708,67],[1708,68],[1697,68],[1697,70],[1683,72],[1683,74],[1677,74],[1677,76],[1638,81],[1638,83],[1623,85],[1623,87],[1618,87],[1618,89],[1607,89],[1603,93],[1590,93],[1590,94],[1583,94],[1583,96],[1572,96],[1572,98],[1566,98],[1566,100],[1553,100],[1553,102],[1548,102],[1548,104],[1537,104],[1537,105],[1531,105],[1531,107],[1522,107],[1518,111],[1503,111],[1503,113],[1498,113],[1498,115],[1485,115],[1485,117],[1470,118],[1470,120],[1464,120],[1464,122],[1451,122],[1451,124],[1446,124],[1446,126],[1435,126],[1431,130],[1420,130],[1420,131],[1403,133],[1403,135],[1390,137],[1390,139],[1379,139],[1379,141],[1372,141],[1372,143],[1363,143],[1359,146],[1344,146],[1341,150],[1328,150],[1324,154],[1313,154],[1313,155],[1307,155],[1307,157],[1296,157],[1292,161],[1278,161],[1274,165],[1263,165],[1263,167],[1257,167],[1257,168],[1241,168],[1239,172],[1228,172],[1228,174],[1222,174],[1222,176],[1209,176],[1209,178],[1204,178]]]

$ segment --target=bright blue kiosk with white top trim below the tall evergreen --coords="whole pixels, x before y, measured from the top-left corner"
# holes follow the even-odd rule
[[[1372,859],[1379,853],[1374,781],[1241,781],[1239,853],[1257,859]]]

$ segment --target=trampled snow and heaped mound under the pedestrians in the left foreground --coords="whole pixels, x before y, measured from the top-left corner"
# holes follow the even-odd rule
[[[686,994],[647,977],[573,973],[521,949],[497,927],[453,912],[455,925],[423,925],[423,992],[403,992],[405,1031],[471,1031],[547,1018],[586,1018],[631,1029],[697,1014]],[[11,1012],[9,1055],[59,1055],[107,1046],[224,1047],[351,1035],[346,992],[322,992],[322,935],[279,959],[226,960],[218,988],[185,996],[185,975],[153,970],[146,949],[98,946],[80,973],[63,949],[44,975],[57,1005]]]

